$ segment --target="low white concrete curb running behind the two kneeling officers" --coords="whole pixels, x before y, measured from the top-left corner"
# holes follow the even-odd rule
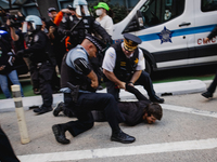
[[[187,81],[176,81],[167,83],[156,83],[153,84],[154,90],[157,96],[165,95],[181,95],[181,94],[191,94],[191,93],[201,93],[206,91],[205,82],[201,80],[187,80]],[[141,85],[136,85],[136,87],[144,94],[148,98],[146,91]],[[106,90],[103,89],[98,91],[99,93],[106,93]],[[135,95],[128,93],[124,90],[120,90],[120,98],[125,99],[136,99]],[[28,110],[30,106],[40,106],[42,104],[41,96],[30,96],[23,97],[23,107],[25,110]],[[56,105],[59,102],[63,102],[63,94],[53,94],[53,105]],[[12,99],[0,99],[0,112],[14,111],[14,100]]]

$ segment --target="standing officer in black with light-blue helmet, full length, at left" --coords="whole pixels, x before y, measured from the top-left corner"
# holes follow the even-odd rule
[[[51,79],[54,72],[54,68],[50,62],[48,55],[49,40],[46,32],[41,30],[42,22],[38,16],[29,15],[26,17],[24,24],[24,30],[27,26],[26,44],[27,49],[18,51],[16,55],[27,55],[33,62],[31,79],[39,80],[39,89],[42,96],[42,106],[34,109],[37,114],[42,114],[52,111],[52,87]]]

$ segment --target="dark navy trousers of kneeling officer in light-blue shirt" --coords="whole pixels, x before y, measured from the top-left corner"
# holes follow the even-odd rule
[[[93,126],[91,110],[103,110],[112,131],[119,131],[118,123],[125,121],[115,98],[107,93],[79,93],[77,103],[72,100],[71,94],[65,93],[64,103],[66,108],[73,109],[78,119],[62,124],[74,137]]]

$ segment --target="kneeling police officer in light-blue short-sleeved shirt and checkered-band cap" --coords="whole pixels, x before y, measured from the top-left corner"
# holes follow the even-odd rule
[[[124,117],[117,108],[115,98],[107,93],[95,93],[99,82],[89,58],[97,57],[98,51],[102,52],[103,49],[105,49],[104,43],[87,33],[82,43],[63,57],[61,91],[64,92],[65,107],[73,109],[78,120],[52,126],[55,139],[61,144],[69,144],[65,137],[66,131],[75,137],[93,126],[94,120],[91,110],[104,110],[112,129],[111,140],[124,144],[136,140],[135,137],[124,133],[118,125],[124,121]],[[68,82],[73,84],[72,86],[79,87],[78,95],[76,95],[77,89],[73,90],[73,95],[71,95]]]

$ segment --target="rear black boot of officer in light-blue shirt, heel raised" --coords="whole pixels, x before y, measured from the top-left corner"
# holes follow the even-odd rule
[[[52,126],[52,131],[53,131],[53,134],[55,136],[55,140],[58,143],[61,143],[61,144],[69,144],[71,140],[68,140],[66,137],[65,137],[65,131],[64,129],[61,126],[61,124],[56,124],[56,125],[53,125]]]

